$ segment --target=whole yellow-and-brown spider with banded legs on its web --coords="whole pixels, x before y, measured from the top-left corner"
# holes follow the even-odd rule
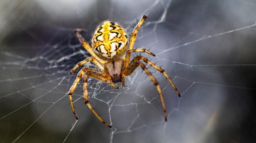
[[[104,21],[97,27],[92,38],[92,47],[80,35],[80,32],[82,32],[82,29],[74,30],[75,36],[79,39],[82,46],[91,54],[92,57],[86,58],[85,60],[76,64],[75,67],[70,71],[70,74],[73,71],[75,71],[76,68],[85,64],[88,61],[94,62],[101,70],[101,71],[98,71],[93,68],[82,68],[78,72],[75,82],[71,86],[70,91],[68,93],[72,112],[74,113],[74,116],[76,119],[78,118],[74,110],[72,94],[79,80],[82,78],[82,76],[83,76],[84,103],[88,106],[88,108],[103,124],[111,128],[109,124],[107,124],[105,121],[103,121],[103,119],[99,117],[99,115],[92,108],[91,104],[88,101],[87,78],[88,76],[91,76],[101,81],[109,81],[109,84],[112,87],[117,89],[118,87],[115,86],[113,83],[122,82],[121,86],[123,87],[124,80],[125,80],[124,76],[130,75],[138,66],[140,66],[142,70],[146,72],[146,74],[149,76],[149,78],[155,84],[158,90],[160,101],[161,101],[163,112],[164,112],[164,118],[165,118],[165,121],[167,121],[165,104],[163,101],[163,96],[162,96],[159,84],[155,79],[155,77],[151,74],[151,72],[146,68],[145,64],[143,64],[140,60],[144,61],[146,64],[149,64],[150,66],[154,67],[155,69],[163,73],[163,75],[168,79],[172,87],[176,90],[178,96],[181,97],[179,91],[174,86],[174,84],[172,83],[171,79],[166,74],[166,72],[156,64],[149,61],[146,57],[138,55],[134,57],[133,60],[130,61],[130,55],[132,52],[146,52],[152,56],[155,56],[153,53],[149,52],[146,49],[133,49],[134,41],[136,39],[139,27],[141,26],[141,24],[144,22],[146,18],[147,18],[146,15],[143,15],[139,20],[138,24],[136,25],[136,27],[134,28],[131,34],[131,37],[129,39],[129,44],[128,44],[128,38],[124,29],[119,24],[114,22]],[[124,57],[119,58],[125,52],[126,54],[124,55]]]

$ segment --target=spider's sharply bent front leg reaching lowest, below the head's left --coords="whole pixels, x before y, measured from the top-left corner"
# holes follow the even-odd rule
[[[97,79],[100,79],[102,81],[107,81],[109,78],[100,75],[99,73],[95,73],[93,71],[86,71],[84,76],[83,76],[83,83],[84,83],[84,103],[86,104],[86,106],[93,112],[93,114],[106,126],[112,128],[109,124],[107,124],[105,121],[103,121],[103,119],[101,119],[99,117],[99,115],[96,113],[96,111],[92,108],[91,104],[89,103],[88,100],[88,91],[87,91],[87,77],[91,76],[91,77],[95,77]]]

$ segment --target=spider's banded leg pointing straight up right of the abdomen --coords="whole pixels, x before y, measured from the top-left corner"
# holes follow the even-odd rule
[[[141,26],[141,24],[144,22],[144,20],[147,18],[146,15],[143,15],[138,24],[136,25],[136,27],[133,29],[133,32],[131,34],[131,37],[130,37],[130,40],[129,40],[129,45],[128,45],[128,50],[132,50],[133,48],[133,44],[134,44],[134,41],[136,39],[136,36],[137,36],[137,32],[139,31],[139,27]],[[126,53],[126,55],[124,56],[124,59],[125,58],[128,58],[128,60],[130,59],[130,54],[128,54],[128,52]],[[126,65],[128,65],[129,63],[126,63]]]

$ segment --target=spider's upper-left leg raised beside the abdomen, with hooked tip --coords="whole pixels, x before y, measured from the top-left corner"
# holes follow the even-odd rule
[[[104,64],[106,61],[100,59],[98,56],[96,56],[96,54],[93,51],[93,48],[83,39],[83,37],[81,36],[81,34],[79,32],[81,32],[81,29],[74,29],[74,33],[75,36],[78,38],[78,40],[81,42],[81,44],[83,45],[83,47],[91,54],[92,57],[94,57],[97,61],[99,61],[101,64]]]

